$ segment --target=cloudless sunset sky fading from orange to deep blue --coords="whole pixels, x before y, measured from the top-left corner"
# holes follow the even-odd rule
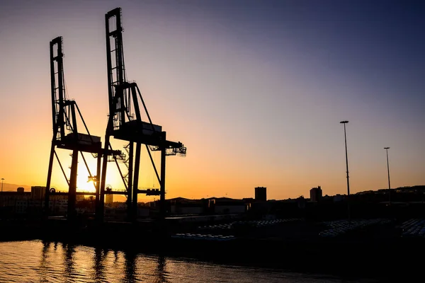
[[[52,140],[49,42],[91,134],[104,140],[104,15],[123,8],[128,79],[154,124],[187,146],[166,197],[269,199],[425,185],[425,2],[1,1],[0,178],[45,185]],[[123,149],[124,141],[114,141]],[[61,152],[67,166],[71,158]],[[144,152],[145,154],[145,152]],[[141,187],[159,187],[143,157]],[[154,154],[159,162],[159,154]],[[96,161],[87,155],[92,173]],[[80,160],[79,189],[88,175]],[[107,183],[122,189],[113,163]],[[52,186],[66,190],[55,163]],[[91,188],[91,187],[90,187]],[[142,197],[145,199],[145,197]]]

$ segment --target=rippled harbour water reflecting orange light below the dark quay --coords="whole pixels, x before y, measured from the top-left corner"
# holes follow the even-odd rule
[[[0,243],[0,282],[284,282],[328,283],[336,277],[42,241]]]

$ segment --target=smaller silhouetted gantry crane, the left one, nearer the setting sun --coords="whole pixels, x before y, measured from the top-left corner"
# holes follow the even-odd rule
[[[52,122],[53,122],[53,137],[52,146],[50,149],[49,168],[47,171],[47,184],[45,191],[45,210],[49,211],[49,198],[50,195],[67,195],[68,196],[68,219],[74,218],[76,215],[75,203],[77,200],[77,169],[79,153],[81,158],[84,160],[87,171],[89,172],[89,180],[94,181],[94,187],[96,188],[96,204],[99,202],[99,186],[100,182],[98,179],[101,175],[101,157],[104,156],[118,156],[123,158],[121,151],[104,151],[101,145],[101,137],[96,137],[90,134],[89,129],[86,126],[86,122],[81,115],[79,107],[75,100],[67,99],[64,84],[64,65],[63,65],[63,40],[62,37],[56,37],[50,41],[50,81],[52,91]],[[86,134],[79,133],[77,128],[77,118],[81,119]],[[65,149],[72,151],[72,163],[70,166],[71,173],[69,178],[64,171],[60,158],[57,156],[56,149]],[[92,154],[97,158],[97,171],[96,175],[91,175],[89,166],[87,165],[86,158],[83,152]],[[60,165],[62,173],[68,184],[68,192],[60,193],[55,192],[54,189],[50,189],[50,182],[52,180],[52,167],[54,157]],[[81,193],[81,195],[86,192]]]

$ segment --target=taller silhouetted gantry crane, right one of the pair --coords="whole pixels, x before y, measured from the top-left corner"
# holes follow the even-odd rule
[[[129,142],[128,175],[121,174],[125,189],[128,192],[130,216],[137,215],[137,195],[159,195],[161,215],[165,215],[165,161],[169,155],[186,155],[186,147],[181,142],[166,140],[166,132],[162,126],[154,125],[147,111],[147,107],[135,82],[128,82],[125,74],[123,52],[123,26],[121,8],[115,8],[105,15],[106,22],[106,57],[108,66],[108,100],[109,118],[106,126],[104,149],[111,149],[111,137]],[[142,121],[140,103],[147,116]],[[145,144],[147,153],[152,162],[160,190],[139,190],[140,154],[142,144]],[[157,171],[151,151],[161,151],[160,173]],[[101,178],[101,202],[105,193],[107,161],[103,158]],[[103,212],[103,208],[99,209]]]

